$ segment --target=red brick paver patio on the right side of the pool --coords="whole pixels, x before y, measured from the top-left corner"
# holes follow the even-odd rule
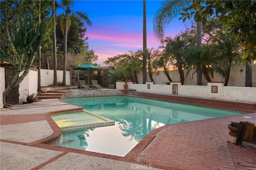
[[[230,121],[256,122],[256,114],[167,125],[136,157],[136,162],[159,168],[186,170],[256,169],[253,150],[228,143]]]

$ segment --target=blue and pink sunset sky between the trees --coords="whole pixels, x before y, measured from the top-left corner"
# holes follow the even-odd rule
[[[148,48],[158,48],[161,45],[153,31],[153,18],[161,2],[146,1]],[[85,25],[85,36],[89,38],[89,49],[93,49],[98,55],[96,63],[101,66],[105,66],[103,61],[108,57],[142,49],[142,0],[79,0],[70,9],[89,14],[92,27]],[[182,20],[175,19],[167,27],[165,36],[174,38],[181,30],[185,30],[184,25]]]

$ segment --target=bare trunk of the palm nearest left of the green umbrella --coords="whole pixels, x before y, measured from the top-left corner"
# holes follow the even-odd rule
[[[64,25],[64,35],[63,35],[63,80],[62,83],[66,85],[66,68],[67,68],[67,37],[68,37],[68,11],[69,7],[66,6],[66,16],[65,16],[65,25]]]

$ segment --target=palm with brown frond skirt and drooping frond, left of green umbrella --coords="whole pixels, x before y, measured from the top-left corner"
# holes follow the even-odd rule
[[[61,25],[61,31],[63,34],[63,80],[62,83],[66,84],[66,65],[67,65],[67,36],[68,36],[68,31],[71,26],[71,20],[69,17],[69,14],[72,12],[70,10],[70,6],[74,4],[74,1],[72,0],[62,0],[61,8],[65,11],[65,18],[62,18],[62,22],[60,23]],[[75,12],[75,14],[78,15],[78,17],[82,18],[85,20],[86,24],[88,26],[92,26],[92,22],[88,18],[88,14],[84,12]]]

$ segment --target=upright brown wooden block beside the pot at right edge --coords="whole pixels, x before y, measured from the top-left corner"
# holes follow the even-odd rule
[[[243,141],[252,142],[253,129],[253,123],[240,122],[236,137],[236,145],[242,146]]]

